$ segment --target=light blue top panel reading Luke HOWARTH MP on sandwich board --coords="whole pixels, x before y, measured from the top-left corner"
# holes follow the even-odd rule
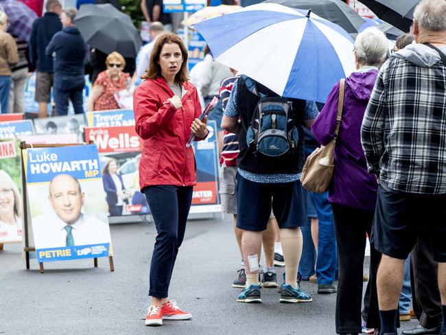
[[[27,183],[49,182],[58,174],[74,178],[101,178],[95,144],[27,150]]]

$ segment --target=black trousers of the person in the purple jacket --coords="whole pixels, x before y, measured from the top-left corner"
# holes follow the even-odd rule
[[[374,212],[335,203],[331,205],[339,258],[336,332],[338,334],[361,333],[362,275],[366,233],[369,236],[371,234]],[[371,269],[377,268],[379,259],[379,253],[371,247]],[[373,285],[369,284],[367,287],[371,290]],[[377,316],[376,292],[368,292],[367,304],[368,315]]]

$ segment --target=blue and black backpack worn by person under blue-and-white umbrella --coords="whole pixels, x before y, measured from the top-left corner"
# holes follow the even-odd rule
[[[294,125],[292,102],[283,97],[268,97],[257,89],[255,82],[242,76],[248,90],[260,97],[250,127],[246,129],[246,143],[254,154],[280,157],[294,150],[298,130]]]

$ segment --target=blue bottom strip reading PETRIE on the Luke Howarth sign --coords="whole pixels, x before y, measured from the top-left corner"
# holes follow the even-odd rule
[[[66,261],[72,259],[107,257],[110,254],[110,243],[90,244],[84,246],[64,246],[36,250],[39,263]]]

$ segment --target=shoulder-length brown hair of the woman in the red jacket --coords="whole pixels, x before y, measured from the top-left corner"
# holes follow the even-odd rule
[[[181,65],[180,71],[176,73],[175,82],[183,84],[187,82],[189,77],[187,76],[187,50],[181,38],[176,36],[176,34],[165,33],[161,34],[156,38],[155,45],[150,55],[149,68],[145,70],[145,74],[141,79],[155,79],[156,77],[161,77],[161,67],[159,65],[159,56],[161,54],[161,49],[166,43],[176,43],[180,47],[181,56],[183,57],[183,64]]]

